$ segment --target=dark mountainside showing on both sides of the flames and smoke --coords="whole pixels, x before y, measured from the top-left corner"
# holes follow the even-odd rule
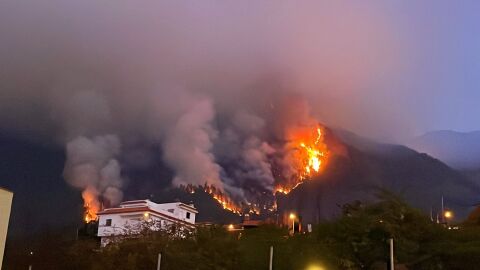
[[[373,199],[379,188],[403,196],[429,212],[439,209],[441,196],[459,218],[465,217],[480,198],[480,188],[462,173],[426,154],[400,145],[379,144],[345,131],[329,132],[329,147],[337,153],[318,179],[300,185],[279,198],[284,211],[294,209],[305,221],[330,218],[339,205]],[[25,235],[42,229],[67,228],[75,233],[82,223],[80,191],[62,178],[65,161],[61,147],[0,136],[0,186],[15,193],[10,235]],[[172,172],[160,162],[123,173],[129,179],[124,198],[150,198],[155,202],[193,202],[198,221],[236,222],[238,215],[224,211],[207,194],[188,194],[168,188]]]

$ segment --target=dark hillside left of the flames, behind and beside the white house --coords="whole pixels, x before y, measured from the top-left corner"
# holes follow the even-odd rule
[[[74,238],[82,226],[83,202],[80,191],[63,179],[64,149],[1,130],[0,149],[0,187],[14,192],[9,238],[52,230],[71,232]],[[168,188],[172,172],[161,162],[142,169],[126,168],[124,173],[129,180],[125,200],[193,201],[200,210],[198,221],[238,220],[238,215],[224,211],[205,193]]]

